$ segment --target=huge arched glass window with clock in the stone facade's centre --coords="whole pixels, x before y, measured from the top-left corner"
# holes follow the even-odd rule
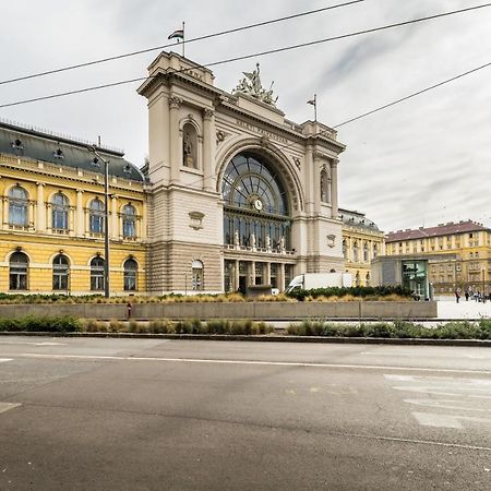
[[[283,251],[290,249],[288,197],[267,159],[241,153],[228,164],[221,184],[226,244]]]

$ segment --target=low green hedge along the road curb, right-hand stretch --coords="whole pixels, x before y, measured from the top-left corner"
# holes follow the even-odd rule
[[[335,324],[326,321],[292,323],[288,334],[296,336],[382,337],[416,339],[491,339],[491,320],[453,321],[426,327],[405,321]]]

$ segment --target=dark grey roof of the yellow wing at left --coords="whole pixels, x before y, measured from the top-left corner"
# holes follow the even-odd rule
[[[94,172],[97,171],[97,166],[94,165],[95,155],[87,148],[88,145],[97,146],[94,143],[91,144],[89,142],[0,120],[1,154],[26,157],[33,160]],[[123,158],[123,152],[105,146],[97,148],[100,156],[109,160],[109,173],[111,176],[134,181],[145,180],[141,170]]]

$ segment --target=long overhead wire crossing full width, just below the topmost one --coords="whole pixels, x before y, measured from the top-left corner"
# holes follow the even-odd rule
[[[477,9],[483,9],[483,8],[487,8],[487,7],[491,7],[491,3],[483,3],[481,5],[469,7],[469,8],[466,8],[466,9],[454,10],[454,11],[451,11],[451,12],[444,12],[444,13],[434,14],[434,15],[428,15],[428,16],[424,16],[424,17],[418,17],[418,19],[414,19],[411,21],[404,21],[404,22],[398,22],[398,23],[395,23],[395,24],[387,24],[387,25],[383,25],[383,26],[380,26],[380,27],[373,27],[373,28],[370,28],[370,29],[363,29],[363,31],[357,31],[357,32],[354,32],[354,33],[342,34],[339,36],[327,37],[327,38],[323,38],[323,39],[319,39],[319,40],[314,40],[314,41],[302,43],[302,44],[299,44],[299,45],[292,45],[292,46],[287,46],[287,47],[283,47],[283,48],[270,49],[267,51],[260,51],[260,52],[255,52],[255,53],[252,53],[252,55],[244,55],[244,56],[240,56],[240,57],[229,58],[229,59],[226,59],[226,60],[215,61],[215,62],[212,62],[212,63],[199,64],[197,67],[209,68],[209,67],[216,67],[218,64],[231,63],[233,61],[247,60],[247,59],[250,59],[250,58],[259,58],[259,57],[263,57],[263,56],[266,56],[266,55],[284,52],[284,51],[288,51],[288,50],[292,50],[292,49],[304,48],[304,47],[308,47],[308,46],[320,45],[320,44],[328,43],[328,41],[333,41],[333,40],[339,40],[339,39],[346,39],[346,38],[349,38],[349,37],[360,36],[360,35],[363,35],[363,34],[371,34],[371,33],[376,33],[376,32],[381,32],[381,31],[386,31],[386,29],[390,29],[390,28],[402,27],[402,26],[405,26],[405,25],[416,24],[416,23],[419,23],[419,22],[431,21],[431,20],[434,20],[434,19],[445,17],[445,16],[448,16],[448,15],[455,15],[455,14],[469,12],[469,11],[477,10]],[[172,73],[172,74],[182,73],[182,72],[187,72],[190,69],[176,70],[176,71],[170,72],[170,73]],[[124,80],[124,81],[119,81],[119,82],[113,82],[113,83],[108,83],[108,84],[103,84],[103,85],[96,85],[96,86],[93,86],[93,87],[85,87],[85,88],[80,88],[80,89],[75,89],[75,91],[69,91],[69,92],[63,92],[63,93],[58,93],[58,94],[51,94],[51,95],[48,95],[48,96],[34,97],[34,98],[24,99],[24,100],[17,100],[15,103],[2,104],[2,105],[0,105],[0,109],[1,108],[5,108],[5,107],[20,106],[20,105],[28,104],[28,103],[36,103],[36,101],[40,101],[40,100],[48,100],[48,99],[53,99],[53,98],[58,98],[58,97],[64,97],[64,96],[69,96],[69,95],[82,94],[82,93],[85,93],[85,92],[98,91],[98,89],[101,89],[101,88],[115,87],[115,86],[118,86],[118,85],[124,85],[124,84],[130,84],[130,83],[134,83],[134,82],[142,82],[142,81],[147,80],[147,79],[149,79],[149,76],[142,76],[142,77],[137,77],[137,79],[130,79],[130,80]]]

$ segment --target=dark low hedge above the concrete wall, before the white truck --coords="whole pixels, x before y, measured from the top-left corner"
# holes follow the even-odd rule
[[[304,301],[311,297],[313,299],[319,297],[357,297],[371,299],[381,299],[384,297],[396,296],[402,298],[411,298],[412,292],[408,288],[404,288],[400,285],[394,286],[376,286],[376,287],[330,287],[330,288],[313,288],[310,290],[294,290],[287,294],[288,297],[295,298],[299,301]]]

